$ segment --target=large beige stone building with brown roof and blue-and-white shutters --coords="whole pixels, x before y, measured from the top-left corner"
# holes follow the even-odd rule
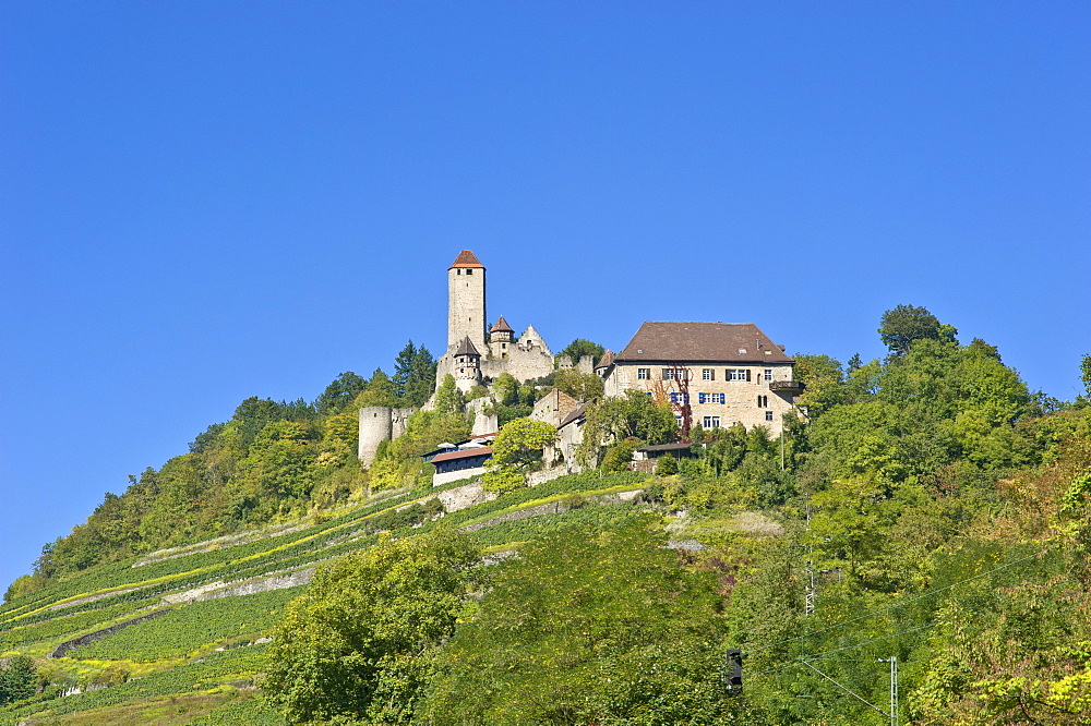
[[[597,368],[607,396],[662,396],[680,424],[688,413],[705,428],[741,422],[778,436],[803,390],[792,359],[753,323],[645,323],[612,358]]]

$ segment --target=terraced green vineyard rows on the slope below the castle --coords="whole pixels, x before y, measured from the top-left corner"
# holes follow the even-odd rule
[[[0,706],[0,724],[279,723],[260,698],[263,634],[317,564],[370,546],[384,529],[427,531],[436,515],[508,549],[563,521],[625,517],[644,483],[573,474],[446,512],[436,495],[468,485],[454,482],[88,570],[0,607],[0,655],[31,655],[53,683]]]

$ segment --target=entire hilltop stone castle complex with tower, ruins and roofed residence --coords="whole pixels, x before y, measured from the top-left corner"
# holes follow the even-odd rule
[[[803,384],[793,380],[794,361],[784,347],[753,323],[645,323],[620,353],[607,351],[594,370],[590,355],[554,361],[532,325],[518,338],[514,334],[503,315],[489,325],[484,265],[463,250],[447,268],[447,348],[436,363],[436,389],[447,375],[468,392],[504,373],[525,383],[550,375],[554,367],[576,368],[598,374],[607,396],[638,390],[662,398],[674,409],[683,432],[691,423],[720,428],[739,422],[764,426],[772,436],[780,435],[784,414],[795,410],[796,396],[803,392]],[[579,419],[574,413],[579,402],[570,402],[565,411],[554,412],[554,425]],[[487,413],[489,403],[488,397],[470,401],[475,435],[496,431],[495,414]],[[364,467],[374,460],[381,441],[405,433],[409,413],[385,407],[360,410],[359,457]]]

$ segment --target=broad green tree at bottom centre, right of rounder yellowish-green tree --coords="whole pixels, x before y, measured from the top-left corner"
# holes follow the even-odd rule
[[[656,518],[570,525],[519,548],[440,655],[428,723],[719,724],[724,622],[710,572]],[[721,721],[723,719],[723,721]],[[736,722],[731,722],[736,723]],[[738,723],[758,723],[743,718]]]

